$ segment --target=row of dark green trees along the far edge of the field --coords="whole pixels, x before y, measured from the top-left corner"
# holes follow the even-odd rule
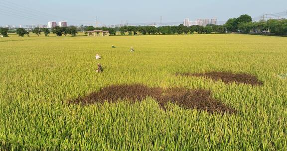
[[[287,19],[269,19],[267,21],[261,20],[259,22],[252,22],[251,16],[244,14],[237,18],[230,18],[223,25],[208,24],[206,26],[184,26],[180,24],[178,26],[123,26],[123,27],[94,27],[94,26],[69,26],[59,27],[56,26],[52,29],[48,28],[34,28],[32,30],[36,35],[40,35],[41,32],[48,36],[50,32],[57,36],[71,35],[76,36],[78,31],[91,31],[91,30],[107,30],[110,35],[116,35],[120,32],[121,35],[153,35],[153,34],[209,34],[209,33],[226,33],[226,32],[242,32],[242,33],[271,33],[276,35],[287,35]],[[0,35],[3,37],[8,36],[8,29],[0,27]],[[29,31],[24,28],[17,28],[16,33],[19,36],[28,35]]]

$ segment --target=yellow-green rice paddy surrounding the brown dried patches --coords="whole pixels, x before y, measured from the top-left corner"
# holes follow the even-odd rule
[[[208,72],[254,75],[262,85],[176,75]],[[286,75],[286,37],[11,35],[0,38],[0,150],[287,151]],[[70,102],[121,84],[204,89],[234,112],[163,109],[148,96]]]

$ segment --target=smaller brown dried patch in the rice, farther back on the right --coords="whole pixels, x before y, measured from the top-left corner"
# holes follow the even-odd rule
[[[176,75],[181,76],[202,76],[206,78],[211,78],[213,80],[221,79],[224,83],[245,83],[251,85],[262,85],[263,82],[258,80],[254,75],[248,74],[233,74],[231,72],[211,72],[211,73],[201,73],[201,74],[191,74],[191,73],[177,73]]]

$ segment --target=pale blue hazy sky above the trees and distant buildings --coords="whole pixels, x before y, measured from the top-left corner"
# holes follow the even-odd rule
[[[17,4],[17,5],[15,5]],[[0,25],[47,24],[67,21],[68,25],[178,22],[184,18],[218,18],[225,21],[241,14],[287,10],[287,0],[0,0]]]

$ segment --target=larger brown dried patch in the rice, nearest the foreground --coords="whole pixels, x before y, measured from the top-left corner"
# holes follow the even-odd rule
[[[70,103],[81,103],[83,105],[93,103],[109,103],[118,100],[143,101],[147,96],[156,99],[163,109],[168,102],[176,103],[186,109],[198,109],[209,113],[234,113],[235,110],[212,98],[209,90],[183,88],[162,89],[159,87],[149,88],[141,84],[134,85],[111,85],[93,92],[87,96],[71,100]]]

